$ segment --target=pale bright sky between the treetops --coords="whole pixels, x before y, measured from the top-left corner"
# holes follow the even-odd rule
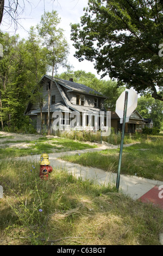
[[[30,1],[30,0],[29,0]],[[59,27],[64,29],[65,38],[70,46],[70,54],[68,56],[68,62],[73,65],[73,71],[84,70],[86,72],[91,72],[95,74],[97,78],[100,78],[100,75],[97,74],[97,71],[93,67],[93,63],[84,60],[79,62],[77,58],[73,57],[76,49],[73,47],[73,41],[70,39],[71,26],[70,23],[80,23],[80,17],[84,15],[83,8],[87,6],[87,0],[34,0],[28,3],[27,0],[19,0],[20,6],[23,7],[23,2],[25,3],[24,10],[20,14],[20,20],[18,29],[15,32],[14,25],[8,25],[9,17],[4,14],[3,22],[1,23],[0,29],[3,32],[8,32],[11,35],[19,34],[20,38],[27,38],[28,31],[31,26],[36,26],[43,15],[44,10],[51,12],[56,10],[61,18]],[[8,0],[5,0],[5,5],[8,4]],[[19,9],[20,13],[21,9]],[[59,73],[64,72],[65,70],[60,68]],[[105,80],[109,79],[104,77]]]

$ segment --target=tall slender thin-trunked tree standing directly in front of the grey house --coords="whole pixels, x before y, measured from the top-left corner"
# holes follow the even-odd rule
[[[50,100],[54,72],[55,74],[57,73],[59,66],[67,65],[68,44],[64,38],[63,29],[58,28],[59,23],[60,19],[57,11],[52,11],[52,13],[45,12],[41,16],[40,24],[37,25],[37,29],[43,40],[43,45],[47,48],[48,65],[52,71],[51,84],[48,86],[48,135],[51,133]]]

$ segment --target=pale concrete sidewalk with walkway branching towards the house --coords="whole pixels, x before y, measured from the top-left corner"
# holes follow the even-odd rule
[[[129,145],[124,145],[124,147],[129,147]],[[100,148],[93,148],[93,149],[84,149],[84,150],[76,150],[76,151],[67,151],[62,153],[53,153],[49,155],[49,161],[53,168],[65,169],[68,173],[72,173],[77,178],[79,176],[82,179],[89,179],[97,182],[98,184],[116,184],[117,173],[105,172],[102,169],[92,168],[92,167],[84,167],[80,166],[76,163],[70,163],[59,159],[60,156],[64,155],[74,155],[74,154],[84,154],[86,152],[93,152],[93,151],[101,151],[103,149],[114,149],[117,146],[112,147],[100,147]],[[40,161],[41,155],[34,155],[32,157],[18,157],[18,159],[28,159],[34,161]],[[127,194],[134,200],[141,199],[146,193],[151,191],[154,187],[163,186],[163,181],[158,180],[149,180],[144,179],[137,176],[129,176],[129,175],[122,175],[120,176],[120,188],[119,191]],[[163,190],[163,187],[162,187]],[[159,194],[159,190],[158,190]],[[163,192],[162,192],[163,195]],[[160,199],[159,197],[156,199]],[[151,202],[154,203],[155,198],[151,198]],[[148,199],[150,202],[150,200]],[[159,200],[160,207],[163,209],[163,198]],[[157,202],[156,202],[157,203]]]

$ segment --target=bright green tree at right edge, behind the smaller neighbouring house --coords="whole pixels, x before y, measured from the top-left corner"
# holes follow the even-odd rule
[[[143,118],[152,118],[154,127],[163,127],[163,103],[151,96],[141,96],[137,100],[136,110]]]

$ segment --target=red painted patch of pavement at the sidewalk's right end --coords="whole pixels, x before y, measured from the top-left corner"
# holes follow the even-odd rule
[[[163,209],[163,186],[154,186],[137,200],[143,203],[152,203],[154,206]]]

